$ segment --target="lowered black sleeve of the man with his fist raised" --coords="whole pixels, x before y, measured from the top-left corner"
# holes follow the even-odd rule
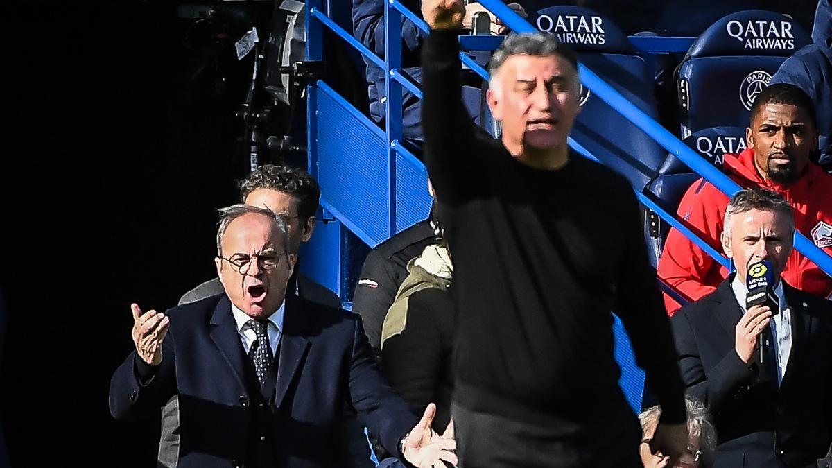
[[[636,197],[624,184],[619,191],[626,204],[620,222],[624,243],[618,262],[616,311],[630,336],[636,362],[646,373],[646,384],[661,404],[661,421],[681,423],[686,421],[684,387],[671,327],[647,262]]]

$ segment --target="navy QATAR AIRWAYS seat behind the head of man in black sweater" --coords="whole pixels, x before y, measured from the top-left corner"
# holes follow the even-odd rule
[[[619,27],[583,7],[547,7],[537,13],[538,29],[556,34],[592,72],[656,118],[652,72]],[[656,177],[666,152],[586,87],[581,88],[581,106],[572,138],[641,191]]]

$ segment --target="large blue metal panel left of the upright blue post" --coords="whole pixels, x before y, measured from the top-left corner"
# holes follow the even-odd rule
[[[321,197],[375,245],[390,236],[388,145],[378,127],[354,117],[354,108],[321,82],[317,101],[318,127],[310,130],[318,147]]]

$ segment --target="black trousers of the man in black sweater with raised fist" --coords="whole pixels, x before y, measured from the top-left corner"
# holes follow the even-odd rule
[[[610,408],[592,425],[557,417],[547,424],[522,421],[457,403],[451,412],[460,468],[641,467],[641,426],[629,407]]]

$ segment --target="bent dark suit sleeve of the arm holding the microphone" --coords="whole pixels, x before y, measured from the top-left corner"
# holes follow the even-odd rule
[[[671,324],[686,393],[705,403],[711,411],[720,411],[740,386],[754,378],[755,366],[745,364],[732,346],[726,356],[706,374],[696,333],[687,311],[683,309],[673,316]]]

